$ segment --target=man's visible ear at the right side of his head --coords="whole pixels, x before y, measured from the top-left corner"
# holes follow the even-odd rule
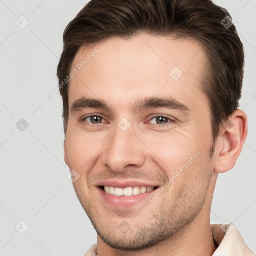
[[[215,154],[214,170],[217,173],[228,171],[235,165],[247,136],[247,116],[242,110],[237,109],[223,126]]]

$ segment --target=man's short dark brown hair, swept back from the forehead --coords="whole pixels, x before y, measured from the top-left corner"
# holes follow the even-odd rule
[[[191,38],[205,49],[208,72],[202,90],[210,102],[213,141],[223,120],[239,106],[243,80],[243,45],[234,25],[221,20],[227,10],[210,0],[91,0],[67,25],[64,48],[57,68],[63,98],[63,120],[68,122],[68,83],[76,52],[81,45],[97,43],[112,36],[128,39],[145,32],[151,35]],[[230,18],[229,18],[230,20]]]

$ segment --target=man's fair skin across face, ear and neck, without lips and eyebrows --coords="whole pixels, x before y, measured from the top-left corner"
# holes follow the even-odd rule
[[[209,100],[200,88],[207,59],[198,43],[148,34],[125,40],[113,37],[82,46],[72,68],[95,48],[99,52],[69,84],[64,151],[66,164],[80,175],[73,185],[97,230],[97,254],[212,255],[214,187],[218,173],[231,169],[240,154],[247,134],[245,113],[236,110],[229,125],[221,127],[210,157]],[[176,81],[169,75],[173,67],[183,72]],[[185,104],[189,112],[132,108],[136,99],[166,95]],[[70,111],[81,97],[103,99],[111,110]],[[93,124],[85,119],[89,114],[103,119]],[[154,118],[161,115],[167,117],[166,123]],[[118,126],[123,118],[131,124],[125,132]],[[112,207],[99,193],[97,183],[110,178],[161,187],[198,151],[200,156],[153,202]],[[118,228],[123,221],[129,227],[126,233]]]

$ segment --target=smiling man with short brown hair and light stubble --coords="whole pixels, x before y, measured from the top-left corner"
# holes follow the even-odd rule
[[[98,234],[86,255],[253,255],[210,225],[247,135],[243,45],[209,0],[92,0],[58,65],[65,162]]]

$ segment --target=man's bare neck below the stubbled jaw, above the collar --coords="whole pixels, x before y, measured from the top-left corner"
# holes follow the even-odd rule
[[[208,209],[202,209],[199,214],[202,214],[205,210]],[[196,219],[172,237],[142,251],[123,251],[114,249],[98,237],[97,254],[98,256],[211,256],[216,250],[216,247],[212,238],[210,219],[201,218],[199,214]]]

